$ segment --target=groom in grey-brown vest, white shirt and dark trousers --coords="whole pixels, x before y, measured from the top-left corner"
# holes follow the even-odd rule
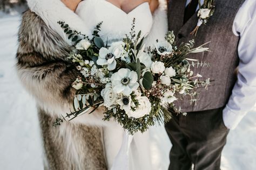
[[[176,33],[177,41],[194,39],[196,46],[211,41],[212,51],[190,56],[211,63],[211,67],[194,68],[194,73],[211,78],[211,86],[198,89],[197,104],[191,105],[189,98],[177,103],[187,116],[173,115],[166,124],[173,144],[172,170],[188,170],[192,164],[197,170],[220,169],[229,129],[256,101],[256,1],[215,0],[213,16],[195,37],[190,32],[197,25],[198,9],[198,0],[168,1],[169,30]]]

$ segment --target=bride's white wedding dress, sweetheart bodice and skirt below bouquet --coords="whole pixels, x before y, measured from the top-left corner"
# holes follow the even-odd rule
[[[105,42],[108,41],[109,45],[112,42],[121,41],[125,34],[129,34],[133,18],[136,19],[135,31],[138,33],[140,30],[145,36],[150,33],[153,24],[152,13],[147,2],[126,13],[105,0],[85,0],[78,5],[76,13],[86,23],[87,28],[91,29],[91,32],[98,23],[103,22],[99,34]],[[124,133],[121,126],[104,128],[103,138],[109,169],[121,148]],[[170,147],[170,140],[163,125],[154,126],[143,134],[138,132],[134,134],[131,141],[129,161],[125,169],[167,169]]]

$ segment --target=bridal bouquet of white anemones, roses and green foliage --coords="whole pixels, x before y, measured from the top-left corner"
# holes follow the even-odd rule
[[[130,34],[109,46],[98,34],[102,23],[91,39],[64,22],[59,24],[75,44],[68,59],[81,73],[72,83],[77,94],[73,111],[65,117],[70,120],[105,107],[105,121],[113,118],[130,134],[144,132],[171,118],[167,109],[174,109],[177,94],[190,95],[194,101],[196,87],[210,83],[209,79],[199,81],[199,74],[193,76],[190,67],[197,63],[187,59],[187,54],[208,48],[192,48],[193,40],[177,47],[173,32],[167,32],[165,41],[156,40],[153,47],[145,48],[144,37],[135,33],[133,20]]]

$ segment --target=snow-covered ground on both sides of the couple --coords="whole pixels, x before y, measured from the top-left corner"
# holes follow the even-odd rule
[[[20,16],[3,17],[0,12],[0,169],[40,170],[42,145],[35,102],[19,84],[14,67],[19,22]],[[256,108],[230,131],[221,167],[256,169]]]

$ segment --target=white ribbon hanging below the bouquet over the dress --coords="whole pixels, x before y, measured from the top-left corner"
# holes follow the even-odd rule
[[[124,132],[121,148],[114,159],[111,170],[129,170],[129,150],[133,136],[127,130]]]

